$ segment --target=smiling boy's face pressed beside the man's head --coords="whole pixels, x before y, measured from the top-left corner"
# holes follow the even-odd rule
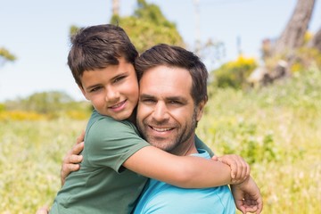
[[[119,59],[119,65],[102,70],[85,70],[80,87],[95,110],[113,119],[128,119],[138,102],[138,82],[133,64]]]

